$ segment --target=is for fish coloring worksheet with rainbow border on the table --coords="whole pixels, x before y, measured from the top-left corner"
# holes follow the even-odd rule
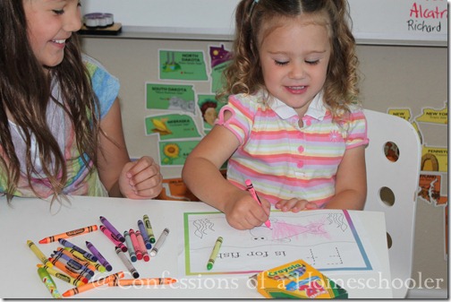
[[[348,211],[271,211],[269,220],[270,228],[238,230],[222,212],[184,212],[184,274],[250,274],[297,259],[322,272],[372,270]],[[217,237],[223,243],[208,270]]]

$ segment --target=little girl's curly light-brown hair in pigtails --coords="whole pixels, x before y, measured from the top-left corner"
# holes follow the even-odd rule
[[[324,84],[325,106],[339,119],[351,105],[360,105],[359,60],[346,0],[242,0],[235,13],[232,60],[224,71],[225,86],[217,92],[217,99],[266,91],[259,56],[261,30],[268,33],[274,26],[271,22],[302,14],[324,16],[328,23],[331,54]]]

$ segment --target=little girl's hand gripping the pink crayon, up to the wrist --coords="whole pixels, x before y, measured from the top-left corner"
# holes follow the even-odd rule
[[[234,229],[253,229],[265,223],[269,218],[271,204],[260,198],[257,203],[251,194],[243,191],[240,197],[225,205],[225,219]]]

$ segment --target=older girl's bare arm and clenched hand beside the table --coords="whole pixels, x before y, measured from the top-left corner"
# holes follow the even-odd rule
[[[115,99],[102,119],[98,146],[98,175],[112,197],[133,199],[154,198],[162,189],[162,177],[157,163],[150,157],[135,162],[130,157],[123,137],[121,108]]]

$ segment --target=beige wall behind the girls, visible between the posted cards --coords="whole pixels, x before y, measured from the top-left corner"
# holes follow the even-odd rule
[[[115,39],[85,37],[85,51],[106,65],[121,81],[123,126],[132,157],[157,157],[156,136],[146,136],[144,82],[158,80],[158,49],[203,50],[218,41]],[[229,48],[229,42],[224,42]],[[447,101],[447,47],[385,47],[359,45],[362,99],[365,108],[387,112],[387,108],[410,108],[419,116],[424,107],[444,108]],[[208,82],[195,83],[197,93],[208,93]],[[447,126],[421,124],[428,145],[447,147]],[[163,168],[167,177],[180,177],[180,168]],[[443,177],[447,177],[446,174]],[[444,179],[443,184],[447,184]],[[442,195],[447,196],[446,185]],[[447,286],[444,207],[418,200],[415,229],[413,280],[443,279]],[[400,226],[402,228],[402,226]],[[420,289],[421,290],[421,289]],[[441,295],[443,292],[438,294]],[[446,294],[446,293],[445,293]],[[428,294],[427,297],[435,297]]]

